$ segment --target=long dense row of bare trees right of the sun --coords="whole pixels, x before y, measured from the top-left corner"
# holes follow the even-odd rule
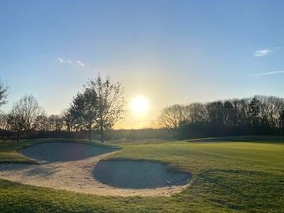
[[[255,96],[208,103],[175,104],[161,112],[160,127],[180,137],[284,135],[284,99]]]

